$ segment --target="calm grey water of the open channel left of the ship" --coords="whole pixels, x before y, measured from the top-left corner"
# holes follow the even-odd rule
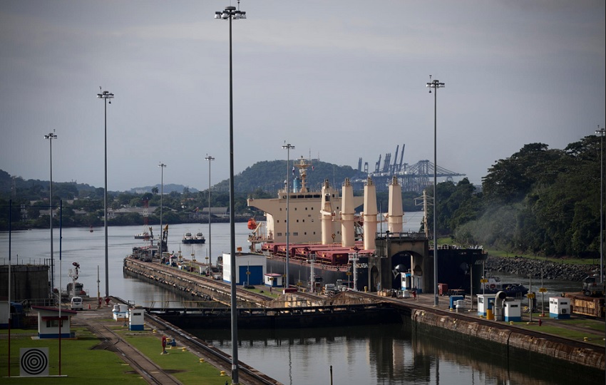
[[[158,228],[154,229],[154,235],[158,235]],[[187,231],[198,230],[207,233],[208,225],[183,224],[170,225],[168,227],[168,251],[178,252],[190,258],[192,253],[197,260],[207,257],[208,245],[182,245],[183,234]],[[212,225],[212,255],[221,255],[230,251],[230,227],[228,223],[216,223]],[[54,231],[54,257],[55,257],[55,287],[59,286],[59,272],[61,272],[61,287],[66,289],[71,282],[69,270],[73,269],[73,262],[80,264],[78,282],[84,284],[84,289],[91,295],[97,296],[97,268],[99,269],[99,284],[101,296],[106,293],[105,279],[105,237],[103,227],[93,227],[93,232],[88,228],[64,228],[62,230],[63,240],[61,242],[61,265],[59,268],[59,230]],[[143,226],[108,227],[108,272],[109,272],[109,294],[122,299],[128,299],[135,304],[148,304],[158,301],[178,301],[178,294],[173,294],[165,289],[155,287],[151,284],[132,277],[127,277],[122,272],[123,260],[133,246],[143,246],[143,240],[135,240],[135,234],[143,231]],[[236,224],[236,246],[246,250],[247,224]],[[51,257],[50,230],[26,230],[14,231],[11,235],[11,264],[43,264]],[[206,241],[208,242],[208,240]],[[9,234],[0,232],[0,263],[8,263]],[[213,262],[216,257],[212,258]]]

